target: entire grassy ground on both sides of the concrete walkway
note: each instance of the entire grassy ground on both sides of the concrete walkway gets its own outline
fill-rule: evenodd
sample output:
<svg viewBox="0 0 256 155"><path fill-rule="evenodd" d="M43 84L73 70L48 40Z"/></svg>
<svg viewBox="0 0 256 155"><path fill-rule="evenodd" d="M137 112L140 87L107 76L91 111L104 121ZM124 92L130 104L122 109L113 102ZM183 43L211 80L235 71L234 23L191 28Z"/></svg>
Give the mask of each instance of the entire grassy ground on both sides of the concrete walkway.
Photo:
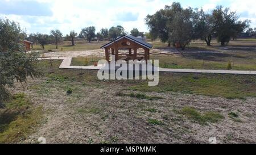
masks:
<svg viewBox="0 0 256 155"><path fill-rule="evenodd" d="M256 70L254 48L236 47L255 41L231 41L235 47L227 49L195 41L183 56L151 58L164 68L226 69L231 62L233 69ZM68 44L63 51L74 50ZM77 43L75 51L101 44ZM72 65L99 59L76 57ZM44 76L28 78L28 89L10 88L13 97L0 110L0 143L38 143L41 136L47 143L208 143L212 136L218 143L255 143L255 76L159 73L152 87L147 80L100 81L96 70L59 69L61 60L51 62L38 61Z"/></svg>

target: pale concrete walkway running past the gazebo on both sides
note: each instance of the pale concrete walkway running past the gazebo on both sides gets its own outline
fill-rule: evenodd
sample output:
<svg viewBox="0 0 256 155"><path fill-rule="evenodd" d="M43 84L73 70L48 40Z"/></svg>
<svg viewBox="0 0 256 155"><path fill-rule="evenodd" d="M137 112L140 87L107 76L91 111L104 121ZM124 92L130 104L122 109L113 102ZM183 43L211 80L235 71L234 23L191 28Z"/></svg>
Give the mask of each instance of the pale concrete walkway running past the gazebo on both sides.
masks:
<svg viewBox="0 0 256 155"><path fill-rule="evenodd" d="M71 66L72 57L48 57L39 58L38 60L63 60L59 66L60 69L92 69L99 70L105 65L98 66ZM169 69L159 68L159 72L174 72L174 73L214 73L214 74L245 74L256 75L256 71L250 70L205 70L205 69Z"/></svg>

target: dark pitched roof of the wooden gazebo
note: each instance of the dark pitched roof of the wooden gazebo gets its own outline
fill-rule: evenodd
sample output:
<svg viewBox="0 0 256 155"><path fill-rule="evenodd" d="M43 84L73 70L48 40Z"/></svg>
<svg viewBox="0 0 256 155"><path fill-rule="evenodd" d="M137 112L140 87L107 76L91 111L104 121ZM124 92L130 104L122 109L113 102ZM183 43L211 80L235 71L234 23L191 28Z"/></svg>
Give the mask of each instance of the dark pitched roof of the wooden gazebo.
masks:
<svg viewBox="0 0 256 155"><path fill-rule="evenodd" d="M108 44L103 45L101 48L108 47L109 45L111 45L111 44L115 43L116 41L119 41L123 38L134 41L135 43L140 44L140 45L142 45L143 47L146 47L146 48L152 48L153 47L150 43L147 43L146 41L143 41L142 39L140 39L138 37L134 37L134 36L130 36L130 35L123 35L123 36L117 37L117 39L115 39L113 41L110 41Z"/></svg>

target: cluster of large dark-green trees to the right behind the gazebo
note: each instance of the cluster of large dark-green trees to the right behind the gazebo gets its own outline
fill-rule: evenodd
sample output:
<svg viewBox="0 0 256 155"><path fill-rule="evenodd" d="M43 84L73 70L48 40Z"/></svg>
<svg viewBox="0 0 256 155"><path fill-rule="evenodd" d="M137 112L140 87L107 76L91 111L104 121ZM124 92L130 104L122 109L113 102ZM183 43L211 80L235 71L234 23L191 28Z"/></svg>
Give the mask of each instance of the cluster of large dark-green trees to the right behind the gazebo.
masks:
<svg viewBox="0 0 256 155"><path fill-rule="evenodd" d="M184 9L179 2L166 5L153 15L147 15L145 22L153 39L159 37L168 47L179 44L182 49L192 40L204 40L211 45L213 37L222 46L227 45L230 39L236 37L250 27L250 20L238 20L236 12L229 8L216 6L207 13L203 9Z"/></svg>

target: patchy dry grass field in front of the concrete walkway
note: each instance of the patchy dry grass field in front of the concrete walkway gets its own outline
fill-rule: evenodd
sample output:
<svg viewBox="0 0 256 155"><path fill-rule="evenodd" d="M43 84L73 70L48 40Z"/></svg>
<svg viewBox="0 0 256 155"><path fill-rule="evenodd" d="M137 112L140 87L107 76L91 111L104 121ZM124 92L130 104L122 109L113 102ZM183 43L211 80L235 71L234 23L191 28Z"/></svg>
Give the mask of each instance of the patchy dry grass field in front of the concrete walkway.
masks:
<svg viewBox="0 0 256 155"><path fill-rule="evenodd" d="M60 63L39 61L45 78L28 81L26 92L47 114L30 139L208 143L217 134L220 143L255 142L255 76L160 73L159 85L149 87L147 81L100 81L95 70L58 69Z"/></svg>

